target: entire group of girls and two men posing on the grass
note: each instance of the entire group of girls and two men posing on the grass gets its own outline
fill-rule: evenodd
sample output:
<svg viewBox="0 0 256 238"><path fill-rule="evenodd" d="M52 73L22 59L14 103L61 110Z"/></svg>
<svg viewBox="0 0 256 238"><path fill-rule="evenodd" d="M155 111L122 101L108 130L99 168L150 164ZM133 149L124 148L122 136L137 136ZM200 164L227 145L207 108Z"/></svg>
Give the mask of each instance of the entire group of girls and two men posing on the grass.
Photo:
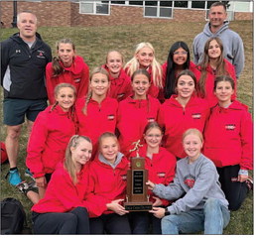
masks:
<svg viewBox="0 0 256 238"><path fill-rule="evenodd" d="M223 2L208 19L192 52L175 42L163 64L141 42L132 59L111 50L89 68L71 39L51 49L35 13L18 13L19 32L1 42L1 148L34 234L223 234L253 189L253 122L237 100L243 42ZM18 169L25 122L30 182ZM138 157L151 206L134 211Z"/></svg>

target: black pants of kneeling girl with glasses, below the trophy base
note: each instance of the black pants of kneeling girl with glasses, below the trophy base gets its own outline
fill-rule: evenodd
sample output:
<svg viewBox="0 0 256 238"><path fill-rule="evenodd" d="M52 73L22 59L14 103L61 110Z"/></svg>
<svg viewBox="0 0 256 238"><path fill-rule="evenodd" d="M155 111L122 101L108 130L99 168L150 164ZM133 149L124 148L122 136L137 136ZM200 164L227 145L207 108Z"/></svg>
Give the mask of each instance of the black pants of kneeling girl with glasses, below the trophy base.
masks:
<svg viewBox="0 0 256 238"><path fill-rule="evenodd" d="M162 234L161 219L155 217L148 211L136 211L129 213L132 234L148 234L152 224L153 234Z"/></svg>

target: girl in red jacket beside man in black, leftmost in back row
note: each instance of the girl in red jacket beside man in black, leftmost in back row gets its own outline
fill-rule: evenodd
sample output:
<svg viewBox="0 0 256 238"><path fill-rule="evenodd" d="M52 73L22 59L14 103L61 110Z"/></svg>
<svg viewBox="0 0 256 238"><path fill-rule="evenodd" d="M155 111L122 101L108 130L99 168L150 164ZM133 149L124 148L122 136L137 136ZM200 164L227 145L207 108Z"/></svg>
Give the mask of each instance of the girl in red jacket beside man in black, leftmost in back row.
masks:
<svg viewBox="0 0 256 238"><path fill-rule="evenodd" d="M75 86L77 98L86 94L89 81L89 67L79 56L69 39L57 43L58 57L49 62L46 68L46 84L50 104L55 103L55 87L61 82Z"/></svg>

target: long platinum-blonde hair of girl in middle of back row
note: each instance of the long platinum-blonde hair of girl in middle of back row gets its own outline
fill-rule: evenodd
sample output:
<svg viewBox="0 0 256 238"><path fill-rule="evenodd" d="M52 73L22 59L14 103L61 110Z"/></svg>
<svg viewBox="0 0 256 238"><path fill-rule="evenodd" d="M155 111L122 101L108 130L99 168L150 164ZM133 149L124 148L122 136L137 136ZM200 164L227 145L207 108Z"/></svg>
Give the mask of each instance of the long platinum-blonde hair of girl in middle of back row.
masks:
<svg viewBox="0 0 256 238"><path fill-rule="evenodd" d="M153 84L159 88L163 88L163 82L162 82L162 66L161 64L158 62L158 60L156 60L155 57L155 50L153 48L153 46L150 43L140 43L136 46L135 49L135 53L134 53L134 57L129 60L124 68L127 68L127 74L129 76L131 76L133 74L133 72L135 70L137 70L140 67L139 61L136 59L136 55L143 49L143 48L149 48L150 50L152 50L153 55L154 55L154 59L152 61L151 67L152 67L152 81Z"/></svg>

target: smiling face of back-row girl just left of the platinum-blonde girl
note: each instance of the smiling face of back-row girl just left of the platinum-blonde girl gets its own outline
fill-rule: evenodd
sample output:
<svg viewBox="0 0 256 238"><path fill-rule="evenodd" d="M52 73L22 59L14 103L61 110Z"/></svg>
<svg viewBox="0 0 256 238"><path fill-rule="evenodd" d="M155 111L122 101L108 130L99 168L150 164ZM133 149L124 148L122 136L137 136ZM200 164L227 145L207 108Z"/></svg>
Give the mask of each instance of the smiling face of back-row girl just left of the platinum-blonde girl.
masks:
<svg viewBox="0 0 256 238"><path fill-rule="evenodd" d="M123 58L118 52L110 52L107 56L106 65L111 74L119 74L123 66Z"/></svg>

